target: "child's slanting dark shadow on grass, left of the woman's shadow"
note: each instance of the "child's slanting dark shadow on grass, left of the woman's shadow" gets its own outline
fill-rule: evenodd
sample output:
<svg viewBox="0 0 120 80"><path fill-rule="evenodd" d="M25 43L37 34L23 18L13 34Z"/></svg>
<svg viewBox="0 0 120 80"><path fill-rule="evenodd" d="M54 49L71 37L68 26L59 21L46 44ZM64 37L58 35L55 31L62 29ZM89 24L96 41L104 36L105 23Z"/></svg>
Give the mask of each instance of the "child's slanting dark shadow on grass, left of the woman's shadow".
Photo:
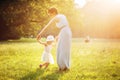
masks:
<svg viewBox="0 0 120 80"><path fill-rule="evenodd" d="M37 69L35 72L30 72L27 75L20 78L20 80L36 80L37 77L44 73L44 69Z"/></svg>

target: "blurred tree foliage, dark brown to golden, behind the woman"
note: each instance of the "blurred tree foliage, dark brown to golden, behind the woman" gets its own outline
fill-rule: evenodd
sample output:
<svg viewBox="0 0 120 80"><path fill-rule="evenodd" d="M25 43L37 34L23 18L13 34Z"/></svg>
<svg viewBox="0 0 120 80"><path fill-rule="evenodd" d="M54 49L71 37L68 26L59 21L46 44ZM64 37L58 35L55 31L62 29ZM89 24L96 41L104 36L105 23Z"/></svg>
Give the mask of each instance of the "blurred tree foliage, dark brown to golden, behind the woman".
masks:
<svg viewBox="0 0 120 80"><path fill-rule="evenodd" d="M4 0L0 2L0 40L35 37L50 20L47 15L49 7L57 7L60 13L65 14L73 32L76 32L75 26L80 26L81 21L74 0ZM51 26L43 36L57 35L58 32Z"/></svg>

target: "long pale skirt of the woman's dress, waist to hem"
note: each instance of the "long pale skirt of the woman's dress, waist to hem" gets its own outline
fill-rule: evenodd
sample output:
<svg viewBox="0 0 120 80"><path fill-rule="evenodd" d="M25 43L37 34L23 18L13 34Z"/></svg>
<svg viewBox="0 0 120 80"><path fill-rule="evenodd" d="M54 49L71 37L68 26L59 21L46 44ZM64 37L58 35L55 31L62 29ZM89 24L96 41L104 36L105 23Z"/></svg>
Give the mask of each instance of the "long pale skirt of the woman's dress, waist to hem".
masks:
<svg viewBox="0 0 120 80"><path fill-rule="evenodd" d="M57 63L59 68L70 68L71 30L65 27L60 31L57 46Z"/></svg>

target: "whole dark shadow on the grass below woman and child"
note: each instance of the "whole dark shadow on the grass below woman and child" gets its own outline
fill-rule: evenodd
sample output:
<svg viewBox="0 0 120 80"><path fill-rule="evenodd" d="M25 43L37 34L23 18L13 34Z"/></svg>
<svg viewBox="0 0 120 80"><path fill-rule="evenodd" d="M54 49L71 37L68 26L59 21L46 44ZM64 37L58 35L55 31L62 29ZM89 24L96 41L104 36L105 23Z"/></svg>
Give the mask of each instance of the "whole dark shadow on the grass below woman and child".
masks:
<svg viewBox="0 0 120 80"><path fill-rule="evenodd" d="M45 69L37 69L35 72L31 72L20 80L59 80L66 72L47 71Z"/></svg>

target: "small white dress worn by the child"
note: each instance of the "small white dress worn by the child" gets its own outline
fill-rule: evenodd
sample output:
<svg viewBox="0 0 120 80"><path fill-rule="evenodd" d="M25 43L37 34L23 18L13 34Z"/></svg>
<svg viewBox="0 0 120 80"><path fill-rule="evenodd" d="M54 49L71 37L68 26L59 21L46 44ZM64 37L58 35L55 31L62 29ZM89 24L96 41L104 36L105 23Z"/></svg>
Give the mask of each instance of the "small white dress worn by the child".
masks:
<svg viewBox="0 0 120 80"><path fill-rule="evenodd" d="M54 64L53 56L50 53L51 49L52 49L52 45L45 46L44 52L42 54L42 61Z"/></svg>

